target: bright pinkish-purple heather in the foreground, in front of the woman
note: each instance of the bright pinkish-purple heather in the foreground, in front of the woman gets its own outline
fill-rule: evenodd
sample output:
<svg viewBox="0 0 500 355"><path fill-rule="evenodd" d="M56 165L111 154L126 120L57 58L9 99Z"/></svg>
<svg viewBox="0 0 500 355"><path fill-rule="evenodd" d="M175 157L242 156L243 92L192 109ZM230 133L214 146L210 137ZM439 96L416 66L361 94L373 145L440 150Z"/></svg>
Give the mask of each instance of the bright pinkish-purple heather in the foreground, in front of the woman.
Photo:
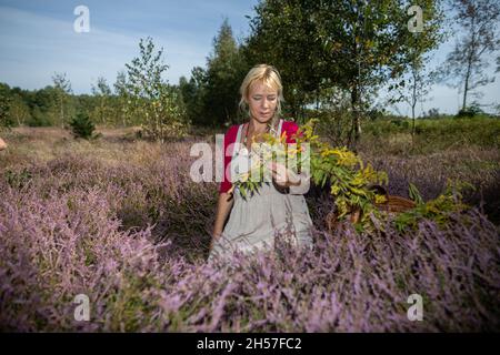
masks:
<svg viewBox="0 0 500 355"><path fill-rule="evenodd" d="M113 192L49 197L10 187L0 209L1 324L21 331L380 332L492 331L499 326L498 233L478 211L442 230L317 232L314 248L278 236L278 253L187 262L150 229L122 232ZM50 210L50 213L47 213ZM16 217L18 216L18 217ZM21 222L22 221L22 222ZM33 237L36 236L36 237ZM91 300L76 322L72 298ZM424 297L424 322L406 300Z"/></svg>

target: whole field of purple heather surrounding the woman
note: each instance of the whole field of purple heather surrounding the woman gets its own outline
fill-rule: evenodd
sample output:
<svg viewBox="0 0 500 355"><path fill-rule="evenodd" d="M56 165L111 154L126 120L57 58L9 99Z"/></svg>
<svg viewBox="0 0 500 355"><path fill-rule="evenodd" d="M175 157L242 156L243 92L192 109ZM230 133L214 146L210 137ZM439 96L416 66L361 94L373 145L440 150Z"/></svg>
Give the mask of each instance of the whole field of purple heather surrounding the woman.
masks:
<svg viewBox="0 0 500 355"><path fill-rule="evenodd" d="M50 154L17 155L26 144L44 146L18 136L0 154L2 331L499 329L499 229L483 213L493 200L473 200L498 193L498 150L362 152L388 172L394 194L408 196L413 182L427 201L447 178L482 186L464 197L490 201L484 209L450 213L444 226L423 219L398 231L371 216L370 234L349 224L329 234L333 201L328 186L313 186L312 250L292 247L283 234L274 251L207 262L217 184L190 180L189 142L63 139ZM89 322L74 320L78 294L90 298ZM407 317L411 294L423 297L422 322Z"/></svg>

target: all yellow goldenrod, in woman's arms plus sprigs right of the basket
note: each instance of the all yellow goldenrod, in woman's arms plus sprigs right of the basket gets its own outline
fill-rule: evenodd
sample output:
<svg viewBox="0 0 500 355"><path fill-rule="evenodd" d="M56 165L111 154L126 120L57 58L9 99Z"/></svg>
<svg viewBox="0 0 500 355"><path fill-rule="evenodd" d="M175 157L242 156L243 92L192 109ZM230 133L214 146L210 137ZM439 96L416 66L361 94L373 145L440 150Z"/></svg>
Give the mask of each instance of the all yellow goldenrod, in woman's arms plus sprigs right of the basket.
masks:
<svg viewBox="0 0 500 355"><path fill-rule="evenodd" d="M266 178L266 173L269 173L270 164L284 160L289 173L300 174L302 170L306 170L316 185L323 187L328 183L339 221L348 215L357 214L359 219L354 222L356 227L372 230L373 222L370 214L382 217L378 205L387 201L386 195L380 194L372 186L387 185L389 183L387 173L364 164L346 146L333 148L320 141L319 136L313 134L317 122L317 119L311 119L299 128L293 135L296 144L286 144L284 133L280 138L267 134L266 143L256 144L254 149L252 148L249 153L251 164L237 174L233 189L238 186L243 196L249 192L254 193L266 181L262 176ZM416 202L416 207L398 216L396 220L398 229L414 225L421 216L434 216L448 221L447 212L463 211L467 207L460 199L453 202L450 196L451 193L448 192L424 203L416 187L410 184L410 197Z"/></svg>

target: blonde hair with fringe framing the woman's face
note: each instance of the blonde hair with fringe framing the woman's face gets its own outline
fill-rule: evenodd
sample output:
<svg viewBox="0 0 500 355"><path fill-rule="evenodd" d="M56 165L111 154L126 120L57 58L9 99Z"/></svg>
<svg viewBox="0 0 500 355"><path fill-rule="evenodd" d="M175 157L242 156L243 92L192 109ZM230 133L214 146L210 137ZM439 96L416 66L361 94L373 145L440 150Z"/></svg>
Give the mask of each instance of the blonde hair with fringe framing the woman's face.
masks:
<svg viewBox="0 0 500 355"><path fill-rule="evenodd" d="M247 116L250 116L250 110L244 99L248 98L250 88L253 85L253 83L259 81L266 84L268 88L278 91L277 110L274 111L274 115L269 123L270 129L276 130L281 118L281 102L284 102L284 98L283 85L281 84L281 75L274 67L268 64L258 64L250 69L240 87L240 110L244 112Z"/></svg>

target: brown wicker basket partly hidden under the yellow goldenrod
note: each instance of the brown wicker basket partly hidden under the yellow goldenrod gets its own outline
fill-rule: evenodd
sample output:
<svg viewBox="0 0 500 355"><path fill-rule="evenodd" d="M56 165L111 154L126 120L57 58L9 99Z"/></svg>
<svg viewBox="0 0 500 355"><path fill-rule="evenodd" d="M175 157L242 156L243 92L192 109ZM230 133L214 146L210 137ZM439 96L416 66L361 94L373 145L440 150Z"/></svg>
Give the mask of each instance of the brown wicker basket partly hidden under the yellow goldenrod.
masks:
<svg viewBox="0 0 500 355"><path fill-rule="evenodd" d="M408 210L411 210L416 206L416 203L411 200L408 200L402 196L396 196L390 195L387 190L383 186L380 185L372 185L370 186L371 190L376 191L378 194L386 195L386 202L383 203L376 203L377 209L379 211L383 211L390 214L397 214L401 213ZM359 222L361 219L361 210L356 209L350 214L347 215L348 221L352 224ZM328 227L328 232L332 233L339 223L339 219L336 212L330 212L327 214L327 217L324 219Z"/></svg>

